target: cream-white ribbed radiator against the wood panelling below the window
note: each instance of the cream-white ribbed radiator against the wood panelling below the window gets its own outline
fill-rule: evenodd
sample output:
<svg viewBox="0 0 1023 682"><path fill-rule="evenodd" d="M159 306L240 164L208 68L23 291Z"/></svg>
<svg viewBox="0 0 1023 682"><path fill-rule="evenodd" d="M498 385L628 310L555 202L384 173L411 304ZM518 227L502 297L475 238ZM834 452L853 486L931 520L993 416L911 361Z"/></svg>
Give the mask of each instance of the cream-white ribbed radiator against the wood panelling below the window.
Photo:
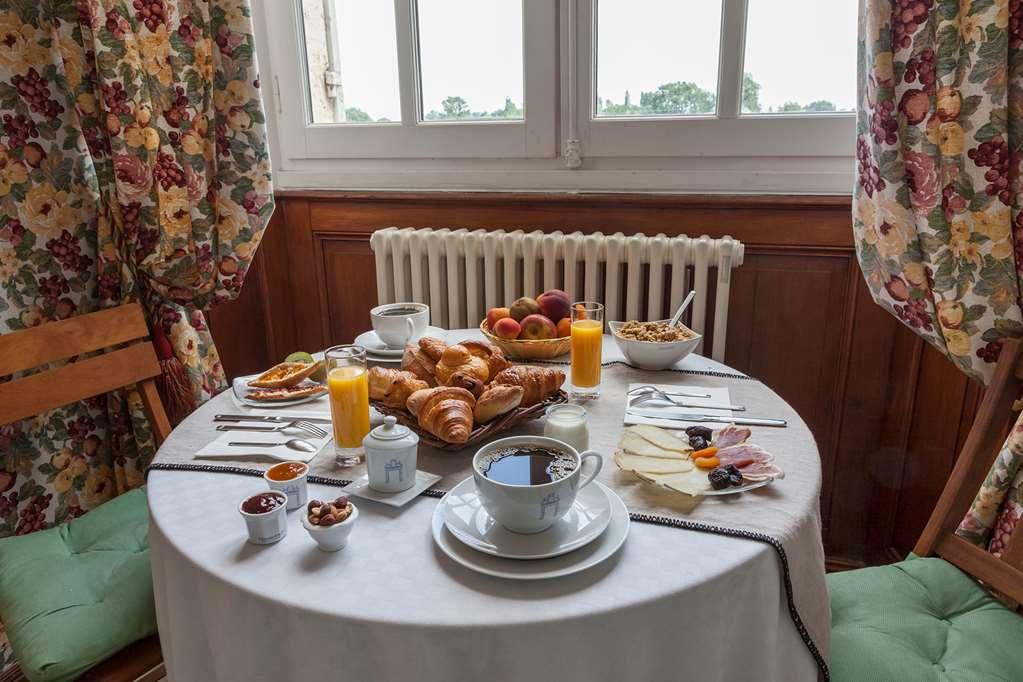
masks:
<svg viewBox="0 0 1023 682"><path fill-rule="evenodd" d="M718 361L724 359L731 269L743 264L744 253L728 236L446 228L389 227L373 232L369 243L379 302L429 304L432 323L448 329L479 326L487 309L549 288L565 289L572 301L604 303L606 320L659 320L695 288L690 326L703 333L708 278L716 268L711 357Z"/></svg>

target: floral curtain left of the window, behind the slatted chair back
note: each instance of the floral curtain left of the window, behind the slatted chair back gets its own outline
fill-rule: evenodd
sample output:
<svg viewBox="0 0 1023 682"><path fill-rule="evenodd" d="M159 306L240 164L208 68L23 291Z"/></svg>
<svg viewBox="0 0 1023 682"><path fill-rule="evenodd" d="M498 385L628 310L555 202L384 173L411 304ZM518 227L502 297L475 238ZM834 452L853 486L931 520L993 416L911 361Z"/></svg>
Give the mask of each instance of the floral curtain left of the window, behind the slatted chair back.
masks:
<svg viewBox="0 0 1023 682"><path fill-rule="evenodd" d="M139 301L192 402L224 387L203 311L237 294L273 210L250 16L0 0L0 333ZM153 452L134 391L0 426L0 537L140 485Z"/></svg>

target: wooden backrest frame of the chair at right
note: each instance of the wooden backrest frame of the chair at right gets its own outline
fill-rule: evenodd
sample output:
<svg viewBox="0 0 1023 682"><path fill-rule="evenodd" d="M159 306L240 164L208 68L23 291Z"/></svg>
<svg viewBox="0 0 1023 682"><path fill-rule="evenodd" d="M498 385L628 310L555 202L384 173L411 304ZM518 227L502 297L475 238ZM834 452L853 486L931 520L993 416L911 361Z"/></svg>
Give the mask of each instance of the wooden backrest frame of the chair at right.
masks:
<svg viewBox="0 0 1023 682"><path fill-rule="evenodd" d="M1000 557L955 534L1005 441L1013 403L1023 387L1023 343L1003 342L994 376L984 392L970 434L914 551L937 554L1017 602L1023 602L1023 522Z"/></svg>

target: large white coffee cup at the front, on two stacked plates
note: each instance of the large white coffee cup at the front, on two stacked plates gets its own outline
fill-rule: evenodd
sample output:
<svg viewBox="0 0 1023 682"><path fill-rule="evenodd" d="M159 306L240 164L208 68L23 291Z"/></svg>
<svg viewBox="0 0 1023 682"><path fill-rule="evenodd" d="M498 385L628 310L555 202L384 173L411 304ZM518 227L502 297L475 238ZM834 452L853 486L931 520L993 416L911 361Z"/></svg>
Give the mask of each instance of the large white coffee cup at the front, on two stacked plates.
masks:
<svg viewBox="0 0 1023 682"><path fill-rule="evenodd" d="M564 479L538 486L500 483L483 474L480 464L487 455L523 446L540 446L570 455L575 459L575 468ZM587 461L595 465L583 475L582 468ZM553 439L513 436L492 441L477 451L473 457L473 480L483 508L494 520L515 533L539 533L568 513L576 493L596 479L603 465L604 458L592 450L580 454L567 443Z"/></svg>

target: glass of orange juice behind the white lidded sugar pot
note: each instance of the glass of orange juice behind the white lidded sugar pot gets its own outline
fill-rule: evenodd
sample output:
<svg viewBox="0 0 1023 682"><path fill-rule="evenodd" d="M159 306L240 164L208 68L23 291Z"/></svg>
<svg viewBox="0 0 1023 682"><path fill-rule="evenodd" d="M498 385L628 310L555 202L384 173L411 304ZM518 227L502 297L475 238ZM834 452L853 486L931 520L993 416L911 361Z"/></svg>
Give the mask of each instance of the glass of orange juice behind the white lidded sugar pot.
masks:
<svg viewBox="0 0 1023 682"><path fill-rule="evenodd" d="M323 352L330 392L333 448L341 466L362 461L362 439L369 433L369 376L366 350L335 346Z"/></svg>

